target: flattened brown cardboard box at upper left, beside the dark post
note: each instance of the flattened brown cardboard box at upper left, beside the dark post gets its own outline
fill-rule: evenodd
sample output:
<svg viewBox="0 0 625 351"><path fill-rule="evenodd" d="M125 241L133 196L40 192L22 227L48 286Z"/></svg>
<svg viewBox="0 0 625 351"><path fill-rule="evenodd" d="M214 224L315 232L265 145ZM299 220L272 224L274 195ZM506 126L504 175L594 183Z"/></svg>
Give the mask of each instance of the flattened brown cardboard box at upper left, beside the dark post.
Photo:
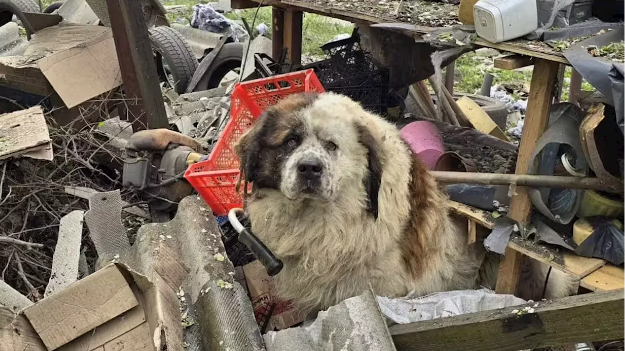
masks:
<svg viewBox="0 0 625 351"><path fill-rule="evenodd" d="M121 83L113 32L107 27L46 27L23 55L0 57L0 85L41 96L56 91L68 108Z"/></svg>

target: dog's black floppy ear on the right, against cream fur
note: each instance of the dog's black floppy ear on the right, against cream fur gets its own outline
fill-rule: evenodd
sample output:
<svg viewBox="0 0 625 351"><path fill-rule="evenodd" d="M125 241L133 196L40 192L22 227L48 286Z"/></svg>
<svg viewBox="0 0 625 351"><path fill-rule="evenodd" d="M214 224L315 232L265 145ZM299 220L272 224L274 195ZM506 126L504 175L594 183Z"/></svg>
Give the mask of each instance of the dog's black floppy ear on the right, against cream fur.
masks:
<svg viewBox="0 0 625 351"><path fill-rule="evenodd" d="M380 160L380 147L369 129L360 123L356 123L358 141L367 149L369 174L364 179L364 189L367 192L369 204L367 210L377 220L377 197L382 183L382 162Z"/></svg>

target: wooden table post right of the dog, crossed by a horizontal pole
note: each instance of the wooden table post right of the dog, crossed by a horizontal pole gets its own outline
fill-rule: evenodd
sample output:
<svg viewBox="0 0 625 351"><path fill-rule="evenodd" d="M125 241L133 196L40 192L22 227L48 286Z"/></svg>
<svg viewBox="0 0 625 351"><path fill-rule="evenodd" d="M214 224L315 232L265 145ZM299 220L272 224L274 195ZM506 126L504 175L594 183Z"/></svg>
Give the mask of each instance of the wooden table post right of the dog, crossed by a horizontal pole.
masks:
<svg viewBox="0 0 625 351"><path fill-rule="evenodd" d="M521 134L519 157L516 161L516 174L527 174L530 156L536 142L549 124L549 107L551 107L552 93L556 82L558 62L545 59L534 60L531 89L527 101L525 125ZM531 214L532 204L527 196L527 189L516 187L516 195L510 202L509 216L526 224ZM506 249L504 260L499 266L496 292L498 294L514 294L521 273L523 255L515 250Z"/></svg>

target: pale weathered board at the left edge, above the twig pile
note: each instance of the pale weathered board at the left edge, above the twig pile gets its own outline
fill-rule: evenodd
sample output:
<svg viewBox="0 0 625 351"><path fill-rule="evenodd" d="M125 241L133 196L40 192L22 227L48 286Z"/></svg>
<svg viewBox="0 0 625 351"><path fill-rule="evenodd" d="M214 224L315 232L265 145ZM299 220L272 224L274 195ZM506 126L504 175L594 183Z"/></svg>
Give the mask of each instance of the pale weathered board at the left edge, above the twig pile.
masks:
<svg viewBox="0 0 625 351"><path fill-rule="evenodd" d="M52 161L51 154L50 132L41 106L0 115L0 160L27 156Z"/></svg>

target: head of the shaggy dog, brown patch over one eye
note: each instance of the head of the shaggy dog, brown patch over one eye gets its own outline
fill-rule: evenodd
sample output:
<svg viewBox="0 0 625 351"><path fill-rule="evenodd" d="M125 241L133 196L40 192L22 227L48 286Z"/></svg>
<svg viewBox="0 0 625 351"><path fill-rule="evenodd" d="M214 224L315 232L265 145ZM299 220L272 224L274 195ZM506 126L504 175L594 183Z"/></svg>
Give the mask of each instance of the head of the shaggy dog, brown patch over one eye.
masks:
<svg viewBox="0 0 625 351"><path fill-rule="evenodd" d="M344 191L364 191L377 217L382 166L377 142L359 121L363 114L359 104L332 93L282 99L235 147L247 181L291 200L332 201Z"/></svg>

